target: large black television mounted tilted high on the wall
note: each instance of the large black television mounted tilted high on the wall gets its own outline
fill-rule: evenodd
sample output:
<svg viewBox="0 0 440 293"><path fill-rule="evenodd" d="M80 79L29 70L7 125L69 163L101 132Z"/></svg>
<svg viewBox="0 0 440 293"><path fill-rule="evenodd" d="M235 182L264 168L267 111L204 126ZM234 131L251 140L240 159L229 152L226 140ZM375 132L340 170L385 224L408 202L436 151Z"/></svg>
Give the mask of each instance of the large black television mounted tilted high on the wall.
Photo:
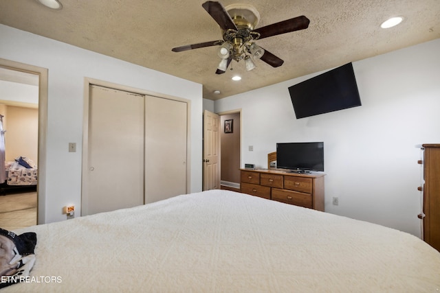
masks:
<svg viewBox="0 0 440 293"><path fill-rule="evenodd" d="M361 106L351 63L290 86L289 94L296 119Z"/></svg>

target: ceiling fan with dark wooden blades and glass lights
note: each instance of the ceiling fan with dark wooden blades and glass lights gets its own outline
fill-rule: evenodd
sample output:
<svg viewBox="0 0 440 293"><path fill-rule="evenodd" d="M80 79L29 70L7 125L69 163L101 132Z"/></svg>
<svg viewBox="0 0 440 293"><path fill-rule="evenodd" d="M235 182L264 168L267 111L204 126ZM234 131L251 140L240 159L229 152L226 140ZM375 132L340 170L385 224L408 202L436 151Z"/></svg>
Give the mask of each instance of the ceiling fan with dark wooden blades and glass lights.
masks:
<svg viewBox="0 0 440 293"><path fill-rule="evenodd" d="M254 60L257 59L263 60L272 67L283 65L284 60L256 45L256 40L287 32L305 30L309 27L310 23L307 17L298 16L254 30L259 23L260 14L252 5L232 4L224 8L217 1L206 1L201 6L220 25L223 31L223 40L184 45L175 47L172 51L181 52L203 47L219 46L217 54L221 61L215 72L217 74L225 73L232 60L239 62L244 59L246 70L248 71L255 68Z"/></svg>

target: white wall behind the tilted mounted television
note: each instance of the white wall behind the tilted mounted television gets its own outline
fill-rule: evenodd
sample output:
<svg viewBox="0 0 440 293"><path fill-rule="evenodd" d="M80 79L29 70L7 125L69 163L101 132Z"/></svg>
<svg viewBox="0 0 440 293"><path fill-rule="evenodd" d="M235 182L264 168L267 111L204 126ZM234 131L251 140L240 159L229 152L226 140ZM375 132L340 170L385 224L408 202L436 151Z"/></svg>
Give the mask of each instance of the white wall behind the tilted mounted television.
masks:
<svg viewBox="0 0 440 293"><path fill-rule="evenodd" d="M324 141L325 210L419 236L415 145L440 143L439 51L437 39L353 62L360 107L296 119L287 88L316 73L219 99L214 110L242 109L242 166L267 167L277 142Z"/></svg>

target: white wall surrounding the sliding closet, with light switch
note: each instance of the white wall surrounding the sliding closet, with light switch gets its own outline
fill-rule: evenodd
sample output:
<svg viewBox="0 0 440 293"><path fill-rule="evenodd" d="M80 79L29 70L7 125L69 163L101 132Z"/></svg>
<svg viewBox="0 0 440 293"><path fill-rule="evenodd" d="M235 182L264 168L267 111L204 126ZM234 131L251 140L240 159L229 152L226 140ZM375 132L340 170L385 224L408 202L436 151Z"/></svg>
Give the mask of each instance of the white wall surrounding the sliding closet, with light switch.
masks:
<svg viewBox="0 0 440 293"><path fill-rule="evenodd" d="M66 204L75 204L80 214L82 152L78 146L83 139L85 77L190 99L190 191L201 191L201 84L5 25L0 25L0 39L0 58L49 71L47 177L45 207L41 207L45 212L39 215L45 222L65 220L61 211ZM77 152L68 152L69 142L76 143Z"/></svg>

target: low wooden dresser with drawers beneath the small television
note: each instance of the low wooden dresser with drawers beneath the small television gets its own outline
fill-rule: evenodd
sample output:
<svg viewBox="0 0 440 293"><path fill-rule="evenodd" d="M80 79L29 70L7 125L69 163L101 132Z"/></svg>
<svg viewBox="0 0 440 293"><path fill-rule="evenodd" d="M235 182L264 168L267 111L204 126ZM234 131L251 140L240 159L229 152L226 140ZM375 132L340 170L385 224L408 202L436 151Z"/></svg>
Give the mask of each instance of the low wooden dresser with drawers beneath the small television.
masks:
<svg viewBox="0 0 440 293"><path fill-rule="evenodd" d="M324 176L323 173L241 169L240 187L243 194L324 211Z"/></svg>

